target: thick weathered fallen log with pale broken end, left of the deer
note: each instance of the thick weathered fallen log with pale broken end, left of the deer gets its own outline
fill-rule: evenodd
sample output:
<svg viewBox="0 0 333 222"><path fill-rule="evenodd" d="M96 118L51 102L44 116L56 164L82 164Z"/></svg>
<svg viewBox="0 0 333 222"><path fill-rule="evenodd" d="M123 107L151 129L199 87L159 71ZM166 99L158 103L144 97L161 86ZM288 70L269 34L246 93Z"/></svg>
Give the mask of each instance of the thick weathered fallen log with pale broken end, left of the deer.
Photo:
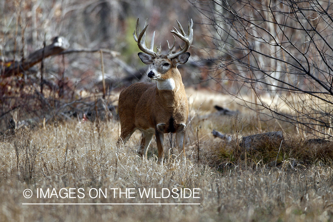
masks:
<svg viewBox="0 0 333 222"><path fill-rule="evenodd" d="M51 45L39 49L31 53L28 58L25 58L21 61L15 61L9 67L6 67L3 73L1 73L1 77L18 75L28 70L35 64L41 62L43 59L63 52L64 50L68 49L68 47L69 43L64 37L55 37Z"/></svg>

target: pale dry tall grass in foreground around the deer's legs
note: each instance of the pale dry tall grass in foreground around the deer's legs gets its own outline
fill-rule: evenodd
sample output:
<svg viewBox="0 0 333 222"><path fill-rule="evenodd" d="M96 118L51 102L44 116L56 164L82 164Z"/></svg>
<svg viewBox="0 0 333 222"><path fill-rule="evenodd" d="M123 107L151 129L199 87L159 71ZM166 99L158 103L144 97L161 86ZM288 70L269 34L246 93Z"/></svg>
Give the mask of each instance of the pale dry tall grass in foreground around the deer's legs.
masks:
<svg viewBox="0 0 333 222"><path fill-rule="evenodd" d="M200 161L196 146L187 140L188 161L166 158L163 167L150 156L136 155L140 139L134 136L117 147L118 122L77 120L17 132L1 143L1 221L327 221L332 217L332 168L330 162L292 164L281 159L275 167L247 152L242 158L212 167L213 152L224 147L224 159L232 156L230 144L200 138ZM205 131L206 129L202 129ZM195 130L193 130L194 132ZM200 131L199 131L200 132ZM137 138L138 137L138 138ZM195 138L189 134L192 141ZM206 136L208 137L208 135ZM23 147L24 149L15 149ZM299 149L304 145L300 143ZM156 146L153 144L153 147ZM296 147L296 146L294 146ZM20 151L21 150L21 151ZM309 148L309 150L311 150ZM208 152L210 151L210 152ZM34 155L34 152L37 152ZM273 157L275 155L272 155ZM275 156L276 157L276 156ZM223 159L220 157L220 159ZM250 164L252 160L252 165ZM20 165L33 163L27 171ZM31 189L33 196L24 198ZM37 198L37 189L78 188L84 198ZM107 188L107 198L90 198L91 188ZM114 198L110 188L199 188L200 198ZM123 190L123 191L124 191ZM124 194L123 194L124 195ZM200 203L200 205L22 205L22 203Z"/></svg>

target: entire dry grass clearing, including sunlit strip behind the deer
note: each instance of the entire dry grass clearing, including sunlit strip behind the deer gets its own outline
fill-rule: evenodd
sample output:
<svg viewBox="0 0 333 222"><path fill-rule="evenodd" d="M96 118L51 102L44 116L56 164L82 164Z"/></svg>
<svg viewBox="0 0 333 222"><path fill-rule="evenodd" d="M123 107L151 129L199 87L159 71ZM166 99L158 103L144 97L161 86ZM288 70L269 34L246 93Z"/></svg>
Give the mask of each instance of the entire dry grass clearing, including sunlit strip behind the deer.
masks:
<svg viewBox="0 0 333 222"><path fill-rule="evenodd" d="M286 126L282 147L241 150L238 138L259 131L256 113L216 94L187 91L187 96L186 165L172 155L158 165L154 142L150 157L142 161L136 155L139 132L118 147L117 120L73 119L19 129L3 139L0 221L333 220L331 143L309 145ZM215 104L239 114L218 115ZM260 124L266 131L283 125L274 120ZM232 141L213 138L214 128L229 133ZM31 198L24 197L26 189L32 191ZM103 193L95 198L100 189ZM148 197L141 196L143 189L150 189Z"/></svg>

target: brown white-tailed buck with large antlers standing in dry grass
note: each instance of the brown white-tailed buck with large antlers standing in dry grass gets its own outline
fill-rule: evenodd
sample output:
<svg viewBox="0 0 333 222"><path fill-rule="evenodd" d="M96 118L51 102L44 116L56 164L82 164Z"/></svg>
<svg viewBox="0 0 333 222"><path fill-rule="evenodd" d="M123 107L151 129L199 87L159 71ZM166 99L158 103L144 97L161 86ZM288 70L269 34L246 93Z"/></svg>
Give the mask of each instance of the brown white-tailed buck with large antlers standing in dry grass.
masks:
<svg viewBox="0 0 333 222"><path fill-rule="evenodd" d="M177 20L176 20L177 21ZM156 83L137 82L124 89L119 96L119 117L121 135L118 142L125 144L139 129L142 139L138 154L147 158L148 147L154 134L158 148L158 163L164 160L164 133L176 134L176 145L182 160L186 160L184 140L185 127L188 118L188 103L185 87L181 79L178 65L185 64L190 56L186 52L193 40L193 22L188 22L188 33L185 34L182 26L177 21L179 31L173 27L171 33L179 37L185 44L176 53L172 53L176 38L173 36L173 44L170 47L167 41L168 54L161 53L161 44L154 52L155 31L152 36L150 48L146 46L147 20L144 29L139 33L139 18L133 33L134 40L138 43L138 53L141 61L146 65L152 65L148 73L151 80Z"/></svg>

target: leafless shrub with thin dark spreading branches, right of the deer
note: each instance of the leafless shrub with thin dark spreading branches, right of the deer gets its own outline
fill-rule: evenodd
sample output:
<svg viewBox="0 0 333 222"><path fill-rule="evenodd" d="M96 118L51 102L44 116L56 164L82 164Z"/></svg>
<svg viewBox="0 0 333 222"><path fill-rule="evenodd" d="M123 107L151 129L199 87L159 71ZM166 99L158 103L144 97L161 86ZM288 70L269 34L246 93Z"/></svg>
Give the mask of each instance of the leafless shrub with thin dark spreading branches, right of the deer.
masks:
<svg viewBox="0 0 333 222"><path fill-rule="evenodd" d="M224 92L250 109L297 126L300 134L332 137L331 2L218 0L193 5L205 16L206 35L215 50L211 75ZM244 99L245 94L252 99Z"/></svg>

